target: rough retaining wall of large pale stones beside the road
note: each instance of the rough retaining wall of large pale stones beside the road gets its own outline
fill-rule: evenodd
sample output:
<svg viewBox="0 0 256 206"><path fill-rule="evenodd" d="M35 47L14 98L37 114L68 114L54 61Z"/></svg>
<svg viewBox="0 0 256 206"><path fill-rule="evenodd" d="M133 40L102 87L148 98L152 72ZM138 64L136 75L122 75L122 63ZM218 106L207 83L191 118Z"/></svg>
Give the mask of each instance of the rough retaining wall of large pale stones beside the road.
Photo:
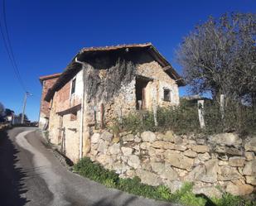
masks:
<svg viewBox="0 0 256 206"><path fill-rule="evenodd" d="M145 184L167 185L172 192L194 182L196 194L220 197L252 194L256 185L256 137L242 141L234 133L209 137L142 132L94 131L91 160L120 177L138 176ZM218 186L218 187L217 187Z"/></svg>

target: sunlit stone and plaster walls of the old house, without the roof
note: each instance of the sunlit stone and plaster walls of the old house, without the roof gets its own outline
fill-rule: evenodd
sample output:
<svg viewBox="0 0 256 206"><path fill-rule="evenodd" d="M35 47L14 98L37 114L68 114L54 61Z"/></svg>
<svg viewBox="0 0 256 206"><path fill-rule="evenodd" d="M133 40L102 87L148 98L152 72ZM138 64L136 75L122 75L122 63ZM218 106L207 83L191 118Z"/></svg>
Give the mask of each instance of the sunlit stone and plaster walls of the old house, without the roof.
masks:
<svg viewBox="0 0 256 206"><path fill-rule="evenodd" d="M74 73L71 72L72 69L69 70L69 74L65 74L66 71L64 71L60 79L65 80L65 83L61 84L57 81L57 84L61 86L57 89L50 89L54 90L54 93L48 103L50 108L49 140L59 146L60 151L65 153L70 160L76 162L81 156L86 156L91 146L91 131L95 127L110 125L114 119L122 119L128 113L136 112L138 109L152 110L158 106L179 105L176 81L181 78L173 77L174 69L167 61L161 63L162 56L161 61L159 56L148 53L148 50L152 49L151 44L145 46L146 50L114 51L115 53L111 54L94 55L83 61L81 57L79 64L83 66ZM114 85L114 94L110 99L105 98L108 96L108 91L104 88L113 84L105 85L106 82L103 79L111 79L115 73L118 73L122 65L119 67L114 67L114 65L117 65L120 58L133 65L131 78ZM167 68L164 69L164 67ZM167 69L172 70L167 72ZM125 69L122 71L125 72ZM93 79L91 82L89 82L91 80L89 77ZM74 80L75 91L72 93ZM94 82L99 85L96 85L92 92L90 89ZM109 86L110 90L111 87ZM104 92L96 95L99 88ZM164 98L165 91L167 91L167 98Z"/></svg>

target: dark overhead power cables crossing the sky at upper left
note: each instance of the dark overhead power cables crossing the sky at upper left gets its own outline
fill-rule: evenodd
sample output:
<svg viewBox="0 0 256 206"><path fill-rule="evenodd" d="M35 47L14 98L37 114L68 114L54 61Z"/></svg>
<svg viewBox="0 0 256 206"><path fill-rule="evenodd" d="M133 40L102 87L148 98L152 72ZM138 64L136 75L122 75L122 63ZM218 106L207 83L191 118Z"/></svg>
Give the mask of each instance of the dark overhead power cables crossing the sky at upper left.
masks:
<svg viewBox="0 0 256 206"><path fill-rule="evenodd" d="M7 55L9 57L9 60L12 63L12 68L14 70L14 74L16 75L16 78L17 78L19 84L22 86L22 89L26 92L27 89L25 87L25 84L22 81L22 76L19 72L19 69L17 67L17 62L16 62L16 60L14 58L14 55L13 55L12 44L11 44L11 41L10 41L8 29L7 29L5 0L2 0L2 14L3 14L3 26L4 26L5 31L6 31L6 37L5 37L4 36L4 29L3 29L2 22L1 22L1 19L0 19L0 30L1 30L1 34L2 34L2 40L4 42L4 46L7 50Z"/></svg>

